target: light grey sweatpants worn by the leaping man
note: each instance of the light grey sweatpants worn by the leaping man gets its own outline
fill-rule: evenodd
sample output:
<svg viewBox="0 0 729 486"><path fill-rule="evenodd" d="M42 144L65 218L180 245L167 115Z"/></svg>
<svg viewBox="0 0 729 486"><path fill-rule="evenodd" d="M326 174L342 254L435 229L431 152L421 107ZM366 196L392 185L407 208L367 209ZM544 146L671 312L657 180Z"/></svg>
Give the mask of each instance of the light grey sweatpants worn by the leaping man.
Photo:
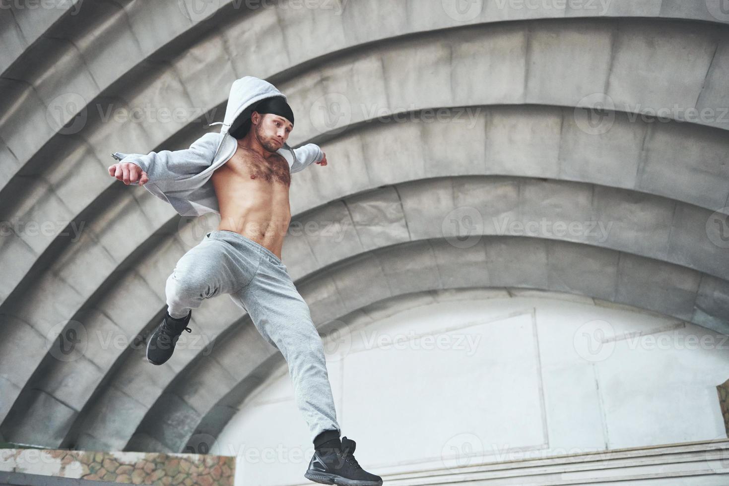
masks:
<svg viewBox="0 0 729 486"><path fill-rule="evenodd" d="M165 292L172 317L187 315L203 299L230 294L284 355L312 442L323 431L341 431L321 337L286 265L268 248L233 231L209 232L179 259Z"/></svg>

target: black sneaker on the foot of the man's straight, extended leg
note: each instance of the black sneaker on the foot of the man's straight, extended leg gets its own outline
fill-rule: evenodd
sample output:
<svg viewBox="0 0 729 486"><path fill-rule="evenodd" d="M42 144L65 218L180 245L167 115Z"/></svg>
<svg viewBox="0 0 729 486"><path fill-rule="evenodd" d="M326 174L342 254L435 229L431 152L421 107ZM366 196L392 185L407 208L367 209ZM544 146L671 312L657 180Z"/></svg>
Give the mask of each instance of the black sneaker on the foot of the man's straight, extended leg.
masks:
<svg viewBox="0 0 729 486"><path fill-rule="evenodd" d="M355 445L356 442L344 436L341 450L314 450L304 477L322 485L381 486L381 477L364 471L357 463L354 458Z"/></svg>

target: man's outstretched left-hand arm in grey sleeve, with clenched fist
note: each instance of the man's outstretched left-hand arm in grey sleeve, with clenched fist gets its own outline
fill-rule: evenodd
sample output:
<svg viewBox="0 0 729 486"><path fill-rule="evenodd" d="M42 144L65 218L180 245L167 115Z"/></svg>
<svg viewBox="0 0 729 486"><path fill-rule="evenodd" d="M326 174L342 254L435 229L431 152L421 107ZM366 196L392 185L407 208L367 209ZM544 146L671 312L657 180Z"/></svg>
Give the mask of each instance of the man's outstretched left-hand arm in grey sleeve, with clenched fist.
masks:
<svg viewBox="0 0 729 486"><path fill-rule="evenodd" d="M115 152L112 156L121 160L109 165L109 176L127 185L144 185L147 181L200 173L213 162L219 139L217 133L206 133L194 141L189 149L162 150L149 154Z"/></svg>

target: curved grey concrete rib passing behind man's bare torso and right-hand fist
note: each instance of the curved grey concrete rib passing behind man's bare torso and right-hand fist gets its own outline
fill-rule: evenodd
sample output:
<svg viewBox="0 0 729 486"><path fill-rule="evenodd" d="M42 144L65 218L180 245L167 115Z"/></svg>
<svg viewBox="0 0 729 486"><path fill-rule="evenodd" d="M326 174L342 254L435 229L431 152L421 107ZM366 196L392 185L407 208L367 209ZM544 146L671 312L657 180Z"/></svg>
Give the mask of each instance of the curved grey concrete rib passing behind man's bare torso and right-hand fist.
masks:
<svg viewBox="0 0 729 486"><path fill-rule="evenodd" d="M721 205L729 190L729 181L720 172L727 141L718 130L631 123L621 115L612 130L598 137L580 130L568 109L470 108L480 110L472 120L472 128L467 119L457 119L458 112L453 111L453 117L443 122L369 125L324 144L332 165L321 173L297 174L292 190L293 213L383 184L459 174L577 180L635 188L709 207ZM388 147L398 147L402 156L392 159ZM171 206L144 189L117 184L122 197L110 203L100 216L83 219L80 235L72 235L79 236L79 240L60 248L53 262L34 275L34 285L28 286L22 298L2 306L4 313L26 323L7 327L18 340L26 333L26 326L35 329L38 339L55 339L61 329L49 334L52 329L63 319L93 307L92 296L98 298L100 286L123 274L122 262L139 257L137 248L148 244L160 227L176 227L178 216ZM707 187L712 190L707 191ZM704 212L701 217L708 218L711 211ZM701 259L698 262L701 268ZM87 272L90 265L95 269L92 273ZM725 270L719 265L713 273L723 276ZM50 292L54 299L48 298ZM23 386L42 356L47 356L47 349L39 345L40 354L33 358L26 354L23 367L18 368L13 365L19 362L13 358L18 352L13 342L15 338L5 345L0 343L0 356L5 357L0 358L2 368L12 370L8 375L17 380L6 385L7 396L14 396L9 388ZM7 409L2 416L6 413Z"/></svg>

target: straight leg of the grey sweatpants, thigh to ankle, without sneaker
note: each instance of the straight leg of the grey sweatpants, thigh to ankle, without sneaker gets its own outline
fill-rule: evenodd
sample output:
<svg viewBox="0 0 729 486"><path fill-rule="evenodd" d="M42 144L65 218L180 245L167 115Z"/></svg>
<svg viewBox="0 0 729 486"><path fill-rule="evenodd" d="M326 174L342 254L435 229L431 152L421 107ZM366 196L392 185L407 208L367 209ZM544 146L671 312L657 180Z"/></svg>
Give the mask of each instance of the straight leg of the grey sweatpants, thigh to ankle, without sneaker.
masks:
<svg viewBox="0 0 729 486"><path fill-rule="evenodd" d="M281 351L289 365L297 407L309 427L312 442L337 439L332 388L324 357L324 345L316 331L309 307L297 291L286 266L275 256L262 254L258 271L249 285L231 294L248 310L261 335ZM323 434L326 432L326 434Z"/></svg>

